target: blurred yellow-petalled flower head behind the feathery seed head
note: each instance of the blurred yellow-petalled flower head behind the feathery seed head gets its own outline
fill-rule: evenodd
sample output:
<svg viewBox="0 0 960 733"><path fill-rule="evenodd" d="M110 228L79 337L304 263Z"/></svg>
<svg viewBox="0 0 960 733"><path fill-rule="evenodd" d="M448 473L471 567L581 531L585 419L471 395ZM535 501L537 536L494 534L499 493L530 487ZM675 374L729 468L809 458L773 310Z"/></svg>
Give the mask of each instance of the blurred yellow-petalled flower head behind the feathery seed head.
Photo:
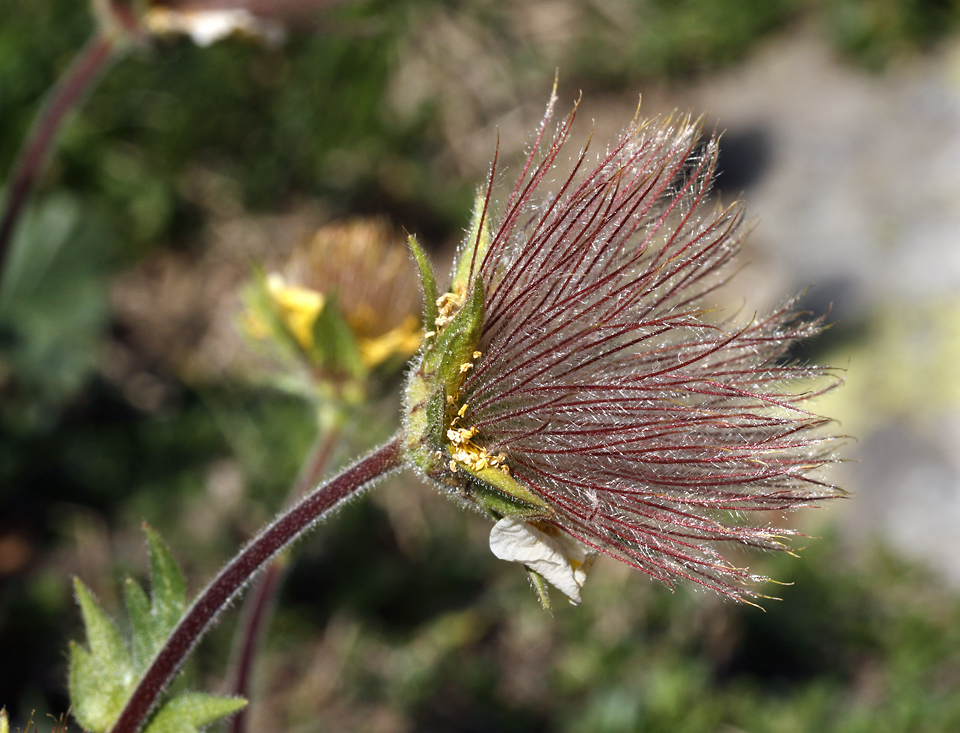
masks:
<svg viewBox="0 0 960 733"><path fill-rule="evenodd" d="M420 347L417 283L399 237L356 219L320 229L248 288L241 323L321 396L363 400Z"/></svg>

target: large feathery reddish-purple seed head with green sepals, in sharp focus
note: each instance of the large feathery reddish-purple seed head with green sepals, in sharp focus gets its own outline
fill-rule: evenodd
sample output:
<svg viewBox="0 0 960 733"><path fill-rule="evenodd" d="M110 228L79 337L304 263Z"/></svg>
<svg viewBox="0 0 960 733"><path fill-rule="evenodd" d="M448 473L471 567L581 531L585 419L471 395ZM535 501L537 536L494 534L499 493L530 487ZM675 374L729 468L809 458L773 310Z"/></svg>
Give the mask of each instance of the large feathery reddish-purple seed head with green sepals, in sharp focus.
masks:
<svg viewBox="0 0 960 733"><path fill-rule="evenodd" d="M786 510L842 491L839 439L807 402L836 382L792 363L816 334L793 301L723 315L711 295L744 235L709 200L717 139L634 121L564 157L551 99L506 201L478 196L452 282L424 282L428 332L406 392L407 461L496 521L491 548L579 602L594 556L738 600L765 578L725 547L787 549ZM432 326L430 324L433 324Z"/></svg>

